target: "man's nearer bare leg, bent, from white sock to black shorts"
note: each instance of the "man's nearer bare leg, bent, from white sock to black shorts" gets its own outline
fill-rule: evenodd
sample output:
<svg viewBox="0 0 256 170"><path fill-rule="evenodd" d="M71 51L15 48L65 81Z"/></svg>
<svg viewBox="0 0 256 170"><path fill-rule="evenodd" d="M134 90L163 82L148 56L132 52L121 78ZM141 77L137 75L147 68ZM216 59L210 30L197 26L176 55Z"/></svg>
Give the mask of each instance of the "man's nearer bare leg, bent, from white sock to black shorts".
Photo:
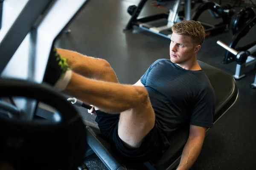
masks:
<svg viewBox="0 0 256 170"><path fill-rule="evenodd" d="M154 127L155 114L142 86L98 81L73 72L66 90L104 112L121 112L118 134L129 147L139 147Z"/></svg>

